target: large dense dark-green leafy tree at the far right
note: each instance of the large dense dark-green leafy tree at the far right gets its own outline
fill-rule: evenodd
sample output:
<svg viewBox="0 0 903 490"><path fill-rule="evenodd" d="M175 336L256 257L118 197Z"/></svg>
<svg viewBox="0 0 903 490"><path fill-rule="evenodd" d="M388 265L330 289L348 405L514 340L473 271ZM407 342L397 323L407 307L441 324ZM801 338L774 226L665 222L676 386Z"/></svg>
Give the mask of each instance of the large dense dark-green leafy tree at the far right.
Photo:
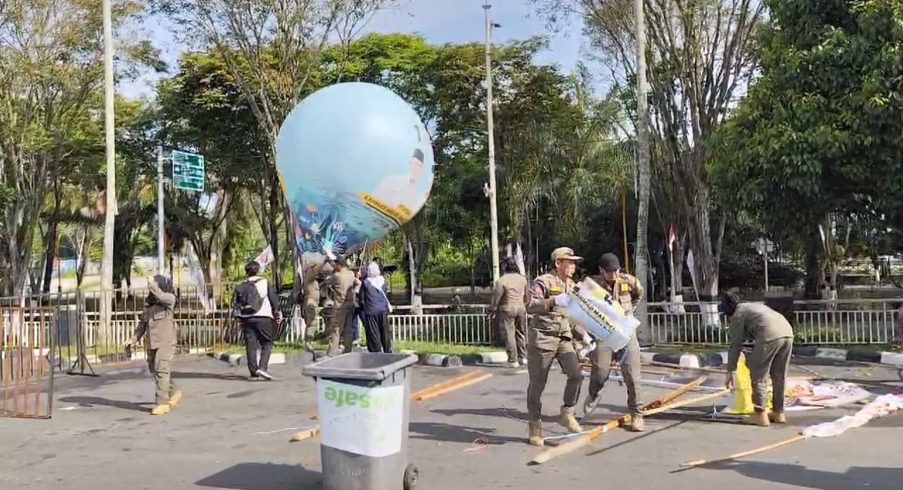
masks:
<svg viewBox="0 0 903 490"><path fill-rule="evenodd" d="M883 229L903 209L903 6L768 6L761 74L715 142L717 176L733 208L777 240L802 239L808 292L831 295L851 230Z"/></svg>

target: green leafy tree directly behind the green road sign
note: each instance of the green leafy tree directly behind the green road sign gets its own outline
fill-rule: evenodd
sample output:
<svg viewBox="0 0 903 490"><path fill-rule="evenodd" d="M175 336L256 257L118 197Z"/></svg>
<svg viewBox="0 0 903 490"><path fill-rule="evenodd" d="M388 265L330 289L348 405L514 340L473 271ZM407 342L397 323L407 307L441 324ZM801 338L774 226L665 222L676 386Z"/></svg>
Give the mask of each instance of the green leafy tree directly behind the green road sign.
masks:
<svg viewBox="0 0 903 490"><path fill-rule="evenodd" d="M204 155L205 191L173 189L167 209L170 227L191 243L205 281L213 282L220 277L222 263L215 258L222 256L228 227L239 225L238 201L257 191L266 172L265 136L216 53L182 56L179 73L164 79L157 93L160 140L167 148Z"/></svg>

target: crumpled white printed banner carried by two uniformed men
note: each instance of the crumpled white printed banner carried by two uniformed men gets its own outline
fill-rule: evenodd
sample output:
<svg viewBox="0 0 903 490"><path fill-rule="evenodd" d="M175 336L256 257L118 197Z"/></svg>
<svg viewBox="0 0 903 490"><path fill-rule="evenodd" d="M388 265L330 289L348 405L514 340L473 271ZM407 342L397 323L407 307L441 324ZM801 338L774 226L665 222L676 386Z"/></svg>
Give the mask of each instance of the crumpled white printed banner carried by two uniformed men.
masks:
<svg viewBox="0 0 903 490"><path fill-rule="evenodd" d="M568 316L600 340L602 348L619 351L627 346L639 326L639 320L624 314L618 301L590 278L570 291Z"/></svg>

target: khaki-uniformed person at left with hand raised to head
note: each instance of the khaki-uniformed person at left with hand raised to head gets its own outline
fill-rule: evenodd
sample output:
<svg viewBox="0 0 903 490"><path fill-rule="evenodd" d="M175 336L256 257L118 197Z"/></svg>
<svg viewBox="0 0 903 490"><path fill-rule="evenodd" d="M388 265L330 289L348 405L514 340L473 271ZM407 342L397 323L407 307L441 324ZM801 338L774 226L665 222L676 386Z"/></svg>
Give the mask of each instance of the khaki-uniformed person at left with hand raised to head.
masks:
<svg viewBox="0 0 903 490"><path fill-rule="evenodd" d="M175 291L172 281L163 275L147 278L147 298L144 299L144 313L135 334L126 341L126 347L134 347L146 335L147 366L154 375L156 384L156 404L151 413L164 415L182 400L182 390L170 379L170 366L175 356L176 331L172 308L175 306Z"/></svg>

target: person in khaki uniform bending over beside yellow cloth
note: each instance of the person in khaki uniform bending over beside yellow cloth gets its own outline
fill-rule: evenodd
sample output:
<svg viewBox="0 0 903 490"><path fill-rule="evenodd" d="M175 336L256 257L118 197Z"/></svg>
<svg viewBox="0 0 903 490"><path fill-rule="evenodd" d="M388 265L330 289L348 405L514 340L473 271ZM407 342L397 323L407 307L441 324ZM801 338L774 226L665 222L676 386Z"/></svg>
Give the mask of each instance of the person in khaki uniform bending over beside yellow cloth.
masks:
<svg viewBox="0 0 903 490"><path fill-rule="evenodd" d="M733 387L733 374L737 371L740 347L751 338L754 342L747 365L752 374L752 404L755 406L750 421L767 427L769 421L787 423L784 416L784 392L787 369L793 353L793 327L775 310L761 303L742 303L737 295L728 292L721 298L721 312L731 323L731 351L728 355L728 374L725 386ZM768 379L771 379L771 412L768 409Z"/></svg>

